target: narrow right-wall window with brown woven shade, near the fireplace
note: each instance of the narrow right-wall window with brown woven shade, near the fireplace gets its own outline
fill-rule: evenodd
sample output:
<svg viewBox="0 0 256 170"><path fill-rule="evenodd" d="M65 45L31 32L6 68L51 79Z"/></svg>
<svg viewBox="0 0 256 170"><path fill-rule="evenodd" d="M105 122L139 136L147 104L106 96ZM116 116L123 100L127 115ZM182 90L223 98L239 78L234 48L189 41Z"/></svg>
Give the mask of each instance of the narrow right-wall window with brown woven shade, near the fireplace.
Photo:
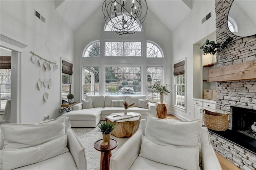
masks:
<svg viewBox="0 0 256 170"><path fill-rule="evenodd" d="M185 109L185 60L174 64L174 105Z"/></svg>

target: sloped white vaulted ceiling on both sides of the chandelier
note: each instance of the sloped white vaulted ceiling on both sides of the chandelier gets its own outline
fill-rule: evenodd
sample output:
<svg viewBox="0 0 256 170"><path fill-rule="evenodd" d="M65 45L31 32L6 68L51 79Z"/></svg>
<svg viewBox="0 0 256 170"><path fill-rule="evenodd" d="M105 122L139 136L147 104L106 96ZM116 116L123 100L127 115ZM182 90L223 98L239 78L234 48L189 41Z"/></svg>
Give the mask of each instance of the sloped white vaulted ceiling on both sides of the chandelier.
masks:
<svg viewBox="0 0 256 170"><path fill-rule="evenodd" d="M62 2L62 3L61 3ZM78 29L104 0L64 0L56 3L56 11L73 29ZM170 31L191 11L192 0L146 0L150 10ZM190 6L190 8L188 6ZM103 17L103 14L102 14Z"/></svg>

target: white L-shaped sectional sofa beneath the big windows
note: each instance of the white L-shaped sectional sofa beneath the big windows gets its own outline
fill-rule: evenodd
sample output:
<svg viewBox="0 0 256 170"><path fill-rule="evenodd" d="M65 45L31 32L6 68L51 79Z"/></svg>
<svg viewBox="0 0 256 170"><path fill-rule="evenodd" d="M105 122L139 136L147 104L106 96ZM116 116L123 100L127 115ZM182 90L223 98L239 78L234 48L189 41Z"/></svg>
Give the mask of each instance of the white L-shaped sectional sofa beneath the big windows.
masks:
<svg viewBox="0 0 256 170"><path fill-rule="evenodd" d="M129 103L135 103L127 112L136 112L142 115L141 119L145 119L146 113L156 115L156 106L148 103L148 108L138 107L139 99L146 99L146 95L98 95L86 96L86 100L92 99L93 108L82 109L83 104L78 103L73 106L73 110L65 113L70 119L71 127L96 127L100 120L105 120L105 117L111 113L123 113L124 107L111 107L111 100L126 100Z"/></svg>

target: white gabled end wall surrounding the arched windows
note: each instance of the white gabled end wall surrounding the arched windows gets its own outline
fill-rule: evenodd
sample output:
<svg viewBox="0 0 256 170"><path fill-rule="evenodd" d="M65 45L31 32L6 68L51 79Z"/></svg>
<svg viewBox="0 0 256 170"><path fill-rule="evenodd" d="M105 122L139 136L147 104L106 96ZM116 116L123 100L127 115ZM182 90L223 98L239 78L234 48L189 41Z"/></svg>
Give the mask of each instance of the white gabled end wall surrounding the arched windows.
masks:
<svg viewBox="0 0 256 170"><path fill-rule="evenodd" d="M105 24L105 20L102 14L102 6L96 10L92 16L90 16L80 28L78 28L75 32L75 59L74 63L75 65L80 65L80 55L81 51L84 49L88 43L92 42L93 40L101 40L102 39L102 29ZM146 40L152 40L164 49L165 56L166 56L166 74L164 75L165 77L165 83L171 84L172 83L172 78L171 78L171 73L172 73L172 68L171 68L171 63L172 63L172 57L171 57L171 32L166 28L162 22L160 22L153 14L148 10L148 14L146 16L146 19L143 23L143 30L144 30L144 35ZM129 38L132 37L132 35L122 35L118 36L116 34L115 38ZM100 51L103 52L103 51ZM95 59L97 60L97 59ZM98 60L97 60L98 61ZM103 64L103 63L102 63ZM147 63L149 65L154 65L154 62L152 63ZM100 63L98 63L100 65ZM75 82L80 82L80 68L76 67L74 69L74 75L75 75ZM80 84L76 83L75 85L75 100L79 101L80 100ZM171 97L166 97L166 102L170 103L171 102Z"/></svg>

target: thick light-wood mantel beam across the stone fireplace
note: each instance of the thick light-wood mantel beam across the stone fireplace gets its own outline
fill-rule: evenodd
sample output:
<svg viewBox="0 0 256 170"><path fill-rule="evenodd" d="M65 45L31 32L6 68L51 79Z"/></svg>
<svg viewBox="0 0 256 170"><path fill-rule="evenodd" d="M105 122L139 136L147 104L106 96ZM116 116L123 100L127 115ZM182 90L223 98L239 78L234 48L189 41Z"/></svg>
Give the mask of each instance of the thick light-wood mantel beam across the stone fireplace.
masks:
<svg viewBox="0 0 256 170"><path fill-rule="evenodd" d="M208 82L256 79L256 60L208 70Z"/></svg>

